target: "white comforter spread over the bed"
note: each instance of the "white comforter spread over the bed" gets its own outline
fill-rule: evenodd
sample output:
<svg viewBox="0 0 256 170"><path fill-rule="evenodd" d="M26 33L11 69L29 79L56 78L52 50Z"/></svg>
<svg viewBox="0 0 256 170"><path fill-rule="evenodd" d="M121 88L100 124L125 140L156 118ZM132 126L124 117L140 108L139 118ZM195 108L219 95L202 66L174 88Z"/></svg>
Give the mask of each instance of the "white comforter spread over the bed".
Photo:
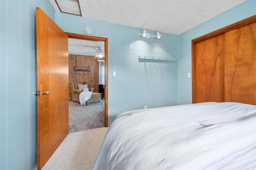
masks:
<svg viewBox="0 0 256 170"><path fill-rule="evenodd" d="M256 106L164 107L116 119L93 170L216 170L256 166Z"/></svg>

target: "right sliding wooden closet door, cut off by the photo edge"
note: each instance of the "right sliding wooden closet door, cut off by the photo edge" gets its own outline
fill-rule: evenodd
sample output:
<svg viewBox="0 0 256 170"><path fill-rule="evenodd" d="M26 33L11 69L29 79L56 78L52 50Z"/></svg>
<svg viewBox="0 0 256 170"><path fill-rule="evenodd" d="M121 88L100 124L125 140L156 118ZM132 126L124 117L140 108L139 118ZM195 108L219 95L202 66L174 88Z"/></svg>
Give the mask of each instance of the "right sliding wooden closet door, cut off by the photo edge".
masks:
<svg viewBox="0 0 256 170"><path fill-rule="evenodd" d="M225 33L225 102L256 105L256 22Z"/></svg>

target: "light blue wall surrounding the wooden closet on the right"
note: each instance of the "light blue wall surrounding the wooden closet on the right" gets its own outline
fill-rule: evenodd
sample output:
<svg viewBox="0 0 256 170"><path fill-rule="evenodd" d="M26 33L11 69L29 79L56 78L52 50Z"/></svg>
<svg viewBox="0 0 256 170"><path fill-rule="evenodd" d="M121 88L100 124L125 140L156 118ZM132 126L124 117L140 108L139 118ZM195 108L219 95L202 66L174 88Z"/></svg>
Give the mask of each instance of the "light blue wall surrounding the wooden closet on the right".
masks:
<svg viewBox="0 0 256 170"><path fill-rule="evenodd" d="M256 15L256 0L248 0L179 35L179 104L192 103L192 79L187 77L187 73L192 72L192 39L254 15Z"/></svg>

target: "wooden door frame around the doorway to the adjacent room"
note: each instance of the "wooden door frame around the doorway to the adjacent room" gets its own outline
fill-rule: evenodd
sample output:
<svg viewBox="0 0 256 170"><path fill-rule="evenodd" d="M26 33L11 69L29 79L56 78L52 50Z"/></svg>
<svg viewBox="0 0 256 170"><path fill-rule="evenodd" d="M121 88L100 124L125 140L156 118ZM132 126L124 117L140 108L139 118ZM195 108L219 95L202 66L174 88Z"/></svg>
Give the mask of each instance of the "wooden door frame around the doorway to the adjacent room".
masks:
<svg viewBox="0 0 256 170"><path fill-rule="evenodd" d="M108 127L108 39L103 37L94 37L89 35L81 35L75 33L66 33L68 38L82 39L89 41L104 41L104 54L105 54L105 87L104 87L104 97L105 97L105 127Z"/></svg>

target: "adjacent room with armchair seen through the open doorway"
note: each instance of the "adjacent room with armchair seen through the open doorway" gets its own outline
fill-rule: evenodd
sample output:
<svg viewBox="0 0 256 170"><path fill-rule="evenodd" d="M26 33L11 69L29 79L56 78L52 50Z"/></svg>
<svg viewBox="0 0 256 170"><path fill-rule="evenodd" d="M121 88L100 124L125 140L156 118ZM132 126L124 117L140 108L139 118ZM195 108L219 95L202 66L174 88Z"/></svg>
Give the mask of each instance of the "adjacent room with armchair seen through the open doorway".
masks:
<svg viewBox="0 0 256 170"><path fill-rule="evenodd" d="M69 133L104 127L104 42L69 38L68 59Z"/></svg>

